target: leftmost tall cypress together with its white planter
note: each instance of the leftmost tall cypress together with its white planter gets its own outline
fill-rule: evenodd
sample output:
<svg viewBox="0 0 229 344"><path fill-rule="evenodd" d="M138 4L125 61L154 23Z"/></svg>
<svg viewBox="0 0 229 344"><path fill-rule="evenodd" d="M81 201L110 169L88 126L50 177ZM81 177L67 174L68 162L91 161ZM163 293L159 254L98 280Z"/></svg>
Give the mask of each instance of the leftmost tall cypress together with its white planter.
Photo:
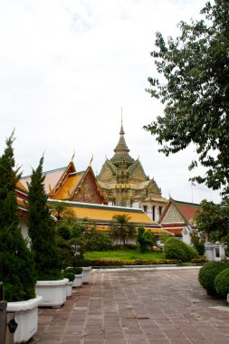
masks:
<svg viewBox="0 0 229 344"><path fill-rule="evenodd" d="M15 314L14 341L20 343L31 339L37 331L37 307L42 297L36 297L33 253L18 225L20 213L15 189L20 173L14 169L14 132L5 142L0 157L0 281L4 283L6 311Z"/></svg>

